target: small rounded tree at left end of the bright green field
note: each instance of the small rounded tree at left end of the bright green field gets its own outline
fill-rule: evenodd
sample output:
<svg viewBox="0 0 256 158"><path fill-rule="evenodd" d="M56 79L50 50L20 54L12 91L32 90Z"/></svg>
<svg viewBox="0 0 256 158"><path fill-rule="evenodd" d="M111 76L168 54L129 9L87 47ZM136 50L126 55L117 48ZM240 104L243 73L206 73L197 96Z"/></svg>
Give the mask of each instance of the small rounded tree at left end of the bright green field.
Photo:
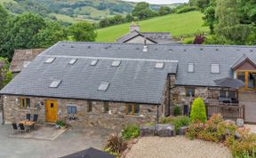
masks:
<svg viewBox="0 0 256 158"><path fill-rule="evenodd" d="M73 24L69 32L75 41L93 42L97 36L95 26L85 21Z"/></svg>

